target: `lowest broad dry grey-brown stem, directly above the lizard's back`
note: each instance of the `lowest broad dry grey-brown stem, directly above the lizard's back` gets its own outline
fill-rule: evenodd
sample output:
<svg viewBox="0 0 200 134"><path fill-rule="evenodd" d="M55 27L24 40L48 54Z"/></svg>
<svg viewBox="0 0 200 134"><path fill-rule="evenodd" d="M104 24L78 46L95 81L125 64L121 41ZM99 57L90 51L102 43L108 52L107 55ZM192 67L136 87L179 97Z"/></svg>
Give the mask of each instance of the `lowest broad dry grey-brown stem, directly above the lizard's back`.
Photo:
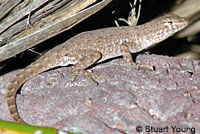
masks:
<svg viewBox="0 0 200 134"><path fill-rule="evenodd" d="M49 25L44 28L40 28L40 30L28 34L27 36L20 38L16 41L8 43L7 45L1 47L0 49L0 62L19 54L36 44L49 39L63 31L70 29L72 26L80 23L84 19L88 18L92 14L96 13L97 11L101 10L107 4L109 4L112 0L104 0L100 3L97 3L85 10L82 10L76 14L71 14L72 16L68 16L67 18L62 18L62 20L58 20L56 23ZM86 6L84 4L84 6ZM76 8L80 10L80 4ZM84 9L82 7L81 9Z"/></svg>

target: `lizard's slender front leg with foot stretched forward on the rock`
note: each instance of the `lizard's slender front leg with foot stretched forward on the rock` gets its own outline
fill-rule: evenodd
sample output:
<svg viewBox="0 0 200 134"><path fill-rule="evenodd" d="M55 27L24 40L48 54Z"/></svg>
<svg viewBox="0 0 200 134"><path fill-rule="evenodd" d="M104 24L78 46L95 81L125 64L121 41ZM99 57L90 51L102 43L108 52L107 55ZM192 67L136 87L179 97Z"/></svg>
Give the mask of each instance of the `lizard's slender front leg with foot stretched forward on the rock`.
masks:
<svg viewBox="0 0 200 134"><path fill-rule="evenodd" d="M145 67L145 68L149 68L151 70L154 70L153 66L151 66L151 65L142 65L142 64L139 64L139 63L136 63L136 62L133 61L131 51L129 50L129 47L128 47L128 43L122 43L120 48L121 48L121 53L122 53L124 60L130 66L135 67L137 69L140 68L140 67Z"/></svg>

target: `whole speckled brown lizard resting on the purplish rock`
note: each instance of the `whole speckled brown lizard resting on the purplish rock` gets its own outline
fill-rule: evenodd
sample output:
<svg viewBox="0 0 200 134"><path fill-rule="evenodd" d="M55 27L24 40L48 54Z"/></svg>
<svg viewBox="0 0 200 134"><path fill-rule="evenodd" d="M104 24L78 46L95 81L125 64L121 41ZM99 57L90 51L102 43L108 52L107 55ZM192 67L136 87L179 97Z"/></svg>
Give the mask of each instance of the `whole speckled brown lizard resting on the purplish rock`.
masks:
<svg viewBox="0 0 200 134"><path fill-rule="evenodd" d="M16 94L20 87L30 78L55 67L72 64L70 72L72 81L77 75L86 75L98 84L98 75L88 67L106 59L121 56L132 67L147 67L132 59L131 53L137 53L170 37L188 25L188 20L173 13L165 14L138 26L121 26L102 28L82 32L66 42L46 52L38 60L22 69L10 81L6 100L12 118L18 123L25 123L16 106Z"/></svg>

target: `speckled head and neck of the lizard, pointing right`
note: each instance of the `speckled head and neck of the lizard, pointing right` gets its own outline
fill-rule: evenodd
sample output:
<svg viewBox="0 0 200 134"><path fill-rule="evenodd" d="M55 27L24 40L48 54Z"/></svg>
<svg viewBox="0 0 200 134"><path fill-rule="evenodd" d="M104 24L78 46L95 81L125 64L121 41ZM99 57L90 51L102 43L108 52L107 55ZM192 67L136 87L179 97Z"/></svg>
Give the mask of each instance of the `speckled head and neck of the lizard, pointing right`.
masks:
<svg viewBox="0 0 200 134"><path fill-rule="evenodd" d="M187 25L188 20L186 18L173 13L165 14L141 26L144 29L143 34L146 36L143 41L146 41L146 46L148 47L152 43L155 44L165 40Z"/></svg>

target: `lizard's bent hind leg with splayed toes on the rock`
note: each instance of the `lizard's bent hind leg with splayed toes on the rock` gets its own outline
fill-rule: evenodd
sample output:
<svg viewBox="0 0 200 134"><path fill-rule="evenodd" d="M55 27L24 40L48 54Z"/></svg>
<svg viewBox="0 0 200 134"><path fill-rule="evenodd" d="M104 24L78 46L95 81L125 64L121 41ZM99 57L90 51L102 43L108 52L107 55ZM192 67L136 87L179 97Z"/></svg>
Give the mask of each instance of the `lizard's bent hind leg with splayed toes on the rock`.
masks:
<svg viewBox="0 0 200 134"><path fill-rule="evenodd" d="M72 82L75 81L77 75L86 75L91 82L98 85L95 79L103 79L98 75L94 74L92 71L85 70L95 62L101 59L101 53L99 51L87 51L84 56L71 68L71 73L73 74Z"/></svg>

